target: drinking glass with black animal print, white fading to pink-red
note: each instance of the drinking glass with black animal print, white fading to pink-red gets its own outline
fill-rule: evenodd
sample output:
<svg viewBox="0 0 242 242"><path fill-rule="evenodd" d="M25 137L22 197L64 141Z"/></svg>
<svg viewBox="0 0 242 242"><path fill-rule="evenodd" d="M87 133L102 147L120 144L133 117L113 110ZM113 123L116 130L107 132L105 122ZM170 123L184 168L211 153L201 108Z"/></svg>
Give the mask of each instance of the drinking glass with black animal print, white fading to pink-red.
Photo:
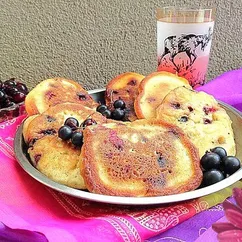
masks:
<svg viewBox="0 0 242 242"><path fill-rule="evenodd" d="M176 73L192 87L206 82L214 9L164 7L157 10L158 71Z"/></svg>

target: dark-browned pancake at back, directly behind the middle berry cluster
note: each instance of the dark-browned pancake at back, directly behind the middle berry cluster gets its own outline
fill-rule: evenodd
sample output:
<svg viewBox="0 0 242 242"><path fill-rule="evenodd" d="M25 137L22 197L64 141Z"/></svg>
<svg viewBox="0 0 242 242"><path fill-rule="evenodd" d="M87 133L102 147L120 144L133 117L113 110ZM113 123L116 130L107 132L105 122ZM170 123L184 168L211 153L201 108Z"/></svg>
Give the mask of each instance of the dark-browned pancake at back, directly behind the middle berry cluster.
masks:
<svg viewBox="0 0 242 242"><path fill-rule="evenodd" d="M126 72L112 79L106 86L105 101L110 110L113 110L113 103L122 99L126 103L126 120L137 119L134 112L134 100L138 95L138 87L145 76L135 72Z"/></svg>

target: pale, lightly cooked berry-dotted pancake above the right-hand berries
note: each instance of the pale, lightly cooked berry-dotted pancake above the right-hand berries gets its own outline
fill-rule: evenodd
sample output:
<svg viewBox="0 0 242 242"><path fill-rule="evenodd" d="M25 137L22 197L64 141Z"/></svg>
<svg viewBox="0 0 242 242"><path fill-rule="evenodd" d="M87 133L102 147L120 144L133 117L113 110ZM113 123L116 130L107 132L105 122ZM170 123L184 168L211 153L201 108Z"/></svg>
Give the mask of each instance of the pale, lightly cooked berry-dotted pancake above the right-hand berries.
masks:
<svg viewBox="0 0 242 242"><path fill-rule="evenodd" d="M156 109L156 118L173 123L198 147L200 157L220 146L235 155L232 121L215 98L205 92L178 87Z"/></svg>

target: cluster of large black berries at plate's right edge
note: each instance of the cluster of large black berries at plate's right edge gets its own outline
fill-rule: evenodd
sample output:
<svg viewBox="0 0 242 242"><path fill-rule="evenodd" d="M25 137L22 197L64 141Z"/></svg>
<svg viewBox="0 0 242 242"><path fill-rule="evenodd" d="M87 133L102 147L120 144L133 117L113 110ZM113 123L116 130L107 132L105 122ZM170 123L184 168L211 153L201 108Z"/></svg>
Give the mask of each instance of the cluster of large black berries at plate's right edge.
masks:
<svg viewBox="0 0 242 242"><path fill-rule="evenodd" d="M203 186L210 186L239 170L241 163L235 156L227 156L222 147L215 147L201 158L203 173Z"/></svg>

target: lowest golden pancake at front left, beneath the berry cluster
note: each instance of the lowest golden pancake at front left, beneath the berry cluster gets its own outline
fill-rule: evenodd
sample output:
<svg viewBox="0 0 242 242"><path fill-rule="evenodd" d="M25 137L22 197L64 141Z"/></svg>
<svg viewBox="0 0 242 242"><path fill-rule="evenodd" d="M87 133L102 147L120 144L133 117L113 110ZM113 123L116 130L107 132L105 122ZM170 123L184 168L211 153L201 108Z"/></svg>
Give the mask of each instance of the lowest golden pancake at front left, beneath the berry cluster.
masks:
<svg viewBox="0 0 242 242"><path fill-rule="evenodd" d="M80 175L81 149L57 136L45 136L28 149L33 165L51 180L69 187L85 189Z"/></svg>

